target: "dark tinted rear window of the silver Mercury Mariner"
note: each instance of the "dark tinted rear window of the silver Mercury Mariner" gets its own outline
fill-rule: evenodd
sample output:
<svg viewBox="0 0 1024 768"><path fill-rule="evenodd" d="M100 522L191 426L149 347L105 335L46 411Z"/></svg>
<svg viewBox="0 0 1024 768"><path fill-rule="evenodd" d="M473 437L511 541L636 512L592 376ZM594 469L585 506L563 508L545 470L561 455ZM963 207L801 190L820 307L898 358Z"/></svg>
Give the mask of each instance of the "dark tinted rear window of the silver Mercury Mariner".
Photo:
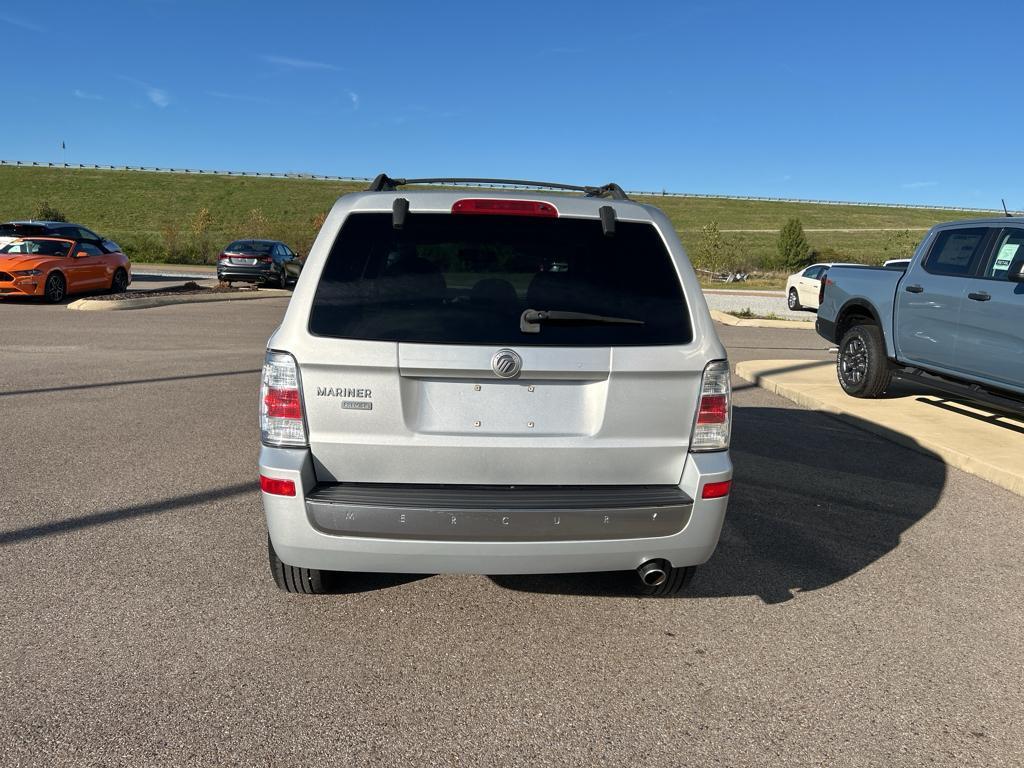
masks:
<svg viewBox="0 0 1024 768"><path fill-rule="evenodd" d="M639 323L542 322L526 309ZM679 278L652 224L596 219L351 214L309 314L317 336L425 344L637 346L692 338Z"/></svg>

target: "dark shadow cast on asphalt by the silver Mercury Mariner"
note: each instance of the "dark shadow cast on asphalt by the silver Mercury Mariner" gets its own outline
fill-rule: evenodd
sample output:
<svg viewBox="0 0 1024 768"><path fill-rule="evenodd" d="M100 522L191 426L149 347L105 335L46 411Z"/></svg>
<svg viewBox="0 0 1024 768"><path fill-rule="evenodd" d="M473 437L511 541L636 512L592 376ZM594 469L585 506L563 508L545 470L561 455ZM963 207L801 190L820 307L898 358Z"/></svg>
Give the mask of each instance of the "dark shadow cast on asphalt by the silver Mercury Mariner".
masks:
<svg viewBox="0 0 1024 768"><path fill-rule="evenodd" d="M682 598L756 595L766 603L821 589L899 546L938 503L946 467L814 411L736 407L733 490L715 554ZM633 594L632 573L492 577L507 589Z"/></svg>

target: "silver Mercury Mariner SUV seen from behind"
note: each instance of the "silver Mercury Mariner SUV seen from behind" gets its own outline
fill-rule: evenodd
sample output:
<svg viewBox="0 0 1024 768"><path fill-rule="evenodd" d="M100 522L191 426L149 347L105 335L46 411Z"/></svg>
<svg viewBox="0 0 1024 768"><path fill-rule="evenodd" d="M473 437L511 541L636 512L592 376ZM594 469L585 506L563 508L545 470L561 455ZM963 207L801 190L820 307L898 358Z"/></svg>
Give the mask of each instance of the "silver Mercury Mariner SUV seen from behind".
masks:
<svg viewBox="0 0 1024 768"><path fill-rule="evenodd" d="M339 199L267 344L278 586L633 570L678 593L718 543L731 408L669 219L613 184L427 182L494 180Z"/></svg>

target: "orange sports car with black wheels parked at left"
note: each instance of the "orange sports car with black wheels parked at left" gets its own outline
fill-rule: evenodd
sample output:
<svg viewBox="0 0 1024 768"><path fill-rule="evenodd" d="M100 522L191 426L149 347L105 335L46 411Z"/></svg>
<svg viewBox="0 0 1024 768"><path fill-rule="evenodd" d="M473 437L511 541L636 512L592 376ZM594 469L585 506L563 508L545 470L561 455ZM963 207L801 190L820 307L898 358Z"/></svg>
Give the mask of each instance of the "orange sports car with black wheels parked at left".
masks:
<svg viewBox="0 0 1024 768"><path fill-rule="evenodd" d="M0 296L42 296L56 303L73 293L120 293L130 283L128 257L90 242L18 238L0 247Z"/></svg>

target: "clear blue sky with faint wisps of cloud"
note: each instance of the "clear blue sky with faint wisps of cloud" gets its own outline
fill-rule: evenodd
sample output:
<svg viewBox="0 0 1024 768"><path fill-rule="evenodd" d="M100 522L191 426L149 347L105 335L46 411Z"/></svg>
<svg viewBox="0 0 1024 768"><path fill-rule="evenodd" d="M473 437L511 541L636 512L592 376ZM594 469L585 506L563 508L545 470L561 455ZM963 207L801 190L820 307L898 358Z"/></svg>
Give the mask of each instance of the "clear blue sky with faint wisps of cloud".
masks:
<svg viewBox="0 0 1024 768"><path fill-rule="evenodd" d="M1020 2L4 0L0 158L1024 208L1021 29Z"/></svg>

